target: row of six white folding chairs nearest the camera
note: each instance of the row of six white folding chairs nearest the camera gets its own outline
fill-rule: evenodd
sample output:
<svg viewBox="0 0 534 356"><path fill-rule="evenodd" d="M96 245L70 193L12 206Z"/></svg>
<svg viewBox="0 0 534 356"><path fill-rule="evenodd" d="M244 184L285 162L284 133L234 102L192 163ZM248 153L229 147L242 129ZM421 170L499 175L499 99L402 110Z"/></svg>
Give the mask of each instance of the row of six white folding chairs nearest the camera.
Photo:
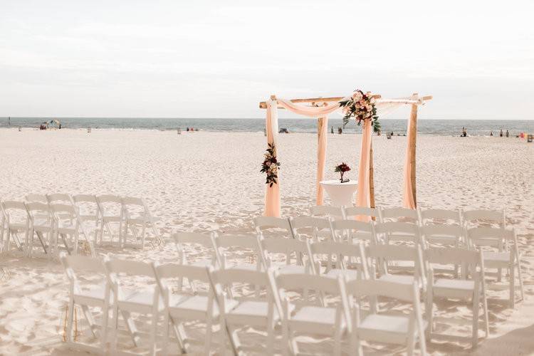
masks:
<svg viewBox="0 0 534 356"><path fill-rule="evenodd" d="M426 352L419 288L415 283L345 278L342 274L323 276L314 273L281 273L276 268L268 268L266 272L239 266L214 268L181 263L159 265L66 255L62 256L61 261L70 281L68 342L72 342L72 310L75 305L81 305L85 307L83 311L90 324L90 331L93 336L100 338L101 352L108 350L108 342L111 344L110 352L117 350L119 315L125 320L127 333L134 344L140 346L142 333L137 330L132 313L152 316L147 342L152 355L157 351L163 355L169 352L169 326L172 326L170 329L179 352L187 352L194 340L187 337L184 322L192 320L206 323L206 337L201 340L204 342L205 354L216 350L212 343L214 324L219 324L217 348L221 355L226 352L226 338L229 339L234 354L249 350L250 347L241 345L236 332L237 328L243 326L266 329L268 336L263 350L273 355L275 344L278 343L275 342L278 325L281 326L282 334L280 351L284 355L288 352L298 354L298 343L293 338L295 332L333 337L335 355L341 353L342 340L348 342L349 353L354 355L362 354L362 340L406 345L409 355L412 355L416 342L419 342L422 354ZM90 289L91 292L85 291L87 286L82 286L81 281L88 279L78 278L78 270L105 275L105 287L102 287L102 281L95 281L93 276L89 280L95 285ZM140 286L136 286L135 290L125 288L125 283L122 283L125 275L130 275L137 281L140 276L150 279L145 286L147 289L140 291ZM186 293L182 284L184 278L190 286L200 282L204 288L197 284L197 288ZM253 286L250 293L243 287L244 283ZM179 286L178 290L174 290L174 286ZM244 293L237 293L240 289ZM177 293L173 293L173 290ZM299 298L295 299L294 293L299 293ZM409 304L410 313L382 315L376 303L377 296ZM369 310L360 310L358 302L362 297L370 297ZM95 318L89 306L103 310L100 327L94 323ZM164 317L161 342L157 342L160 334L159 315ZM397 327L392 328L392 323ZM89 348L88 345L77 347ZM257 350L257 345L251 348Z"/></svg>

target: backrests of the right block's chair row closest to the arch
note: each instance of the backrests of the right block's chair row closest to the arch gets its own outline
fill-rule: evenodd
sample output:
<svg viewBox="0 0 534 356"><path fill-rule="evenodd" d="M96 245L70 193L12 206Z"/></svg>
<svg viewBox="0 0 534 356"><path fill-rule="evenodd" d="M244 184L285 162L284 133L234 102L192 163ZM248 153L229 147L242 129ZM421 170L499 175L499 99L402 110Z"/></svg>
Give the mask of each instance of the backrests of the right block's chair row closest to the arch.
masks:
<svg viewBox="0 0 534 356"><path fill-rule="evenodd" d="M455 224L471 228L479 222L493 224L493 226L506 229L506 214L504 210L472 209L407 209L407 208L365 208L360 206L312 206L312 216L332 216L335 219L352 219L356 216L369 216L375 221L409 221L419 225L429 225L439 222L441 224Z"/></svg>

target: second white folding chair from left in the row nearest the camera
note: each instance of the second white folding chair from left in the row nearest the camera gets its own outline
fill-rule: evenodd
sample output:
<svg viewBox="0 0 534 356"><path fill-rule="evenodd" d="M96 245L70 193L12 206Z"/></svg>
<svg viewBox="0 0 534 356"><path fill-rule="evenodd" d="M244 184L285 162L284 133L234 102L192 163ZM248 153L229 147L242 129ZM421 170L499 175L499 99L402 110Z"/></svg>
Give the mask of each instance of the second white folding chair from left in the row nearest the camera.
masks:
<svg viewBox="0 0 534 356"><path fill-rule="evenodd" d="M142 333L137 329L130 313L139 313L151 315L150 340L147 348L150 355L156 355L157 352L157 324L159 314L164 311L164 304L159 294L157 286L154 263L145 263L140 261L104 259L104 266L108 283L112 290L112 305L108 304L108 314L104 315L103 328L107 330L109 310L112 308L112 353L117 353L117 340L119 337L119 313L127 325L127 329L132 336L132 341L136 347L141 347ZM145 280L145 286L140 286L139 281ZM127 285L133 285L135 288L127 288ZM108 303L110 303L108 301Z"/></svg>

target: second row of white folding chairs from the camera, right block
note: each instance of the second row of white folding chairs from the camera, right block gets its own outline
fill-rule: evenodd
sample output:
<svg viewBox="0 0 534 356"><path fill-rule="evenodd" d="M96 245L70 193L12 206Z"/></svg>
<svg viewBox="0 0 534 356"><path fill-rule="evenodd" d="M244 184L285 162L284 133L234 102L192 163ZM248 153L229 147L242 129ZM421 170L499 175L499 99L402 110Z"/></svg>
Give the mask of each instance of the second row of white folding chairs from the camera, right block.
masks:
<svg viewBox="0 0 534 356"><path fill-rule="evenodd" d="M352 221L353 224L362 224ZM314 241L308 239L285 239L281 237L264 238L263 236L235 236L224 234L219 236L200 233L177 233L173 235L179 251L179 261L195 266L214 266L219 268L247 268L249 271L266 271L275 269L278 273L314 273L336 278L344 276L347 280L377 278L379 281L402 284L415 283L418 289L426 295L426 310L429 325L432 321L432 300L434 298L456 298L471 300L473 308L472 340L473 346L478 342L479 308L483 309L483 324L486 336L488 335L488 309L486 303L486 287L484 280L483 254L481 251L468 251L461 248L431 247L422 251L419 245L397 246L386 244L369 244L362 248L362 241L356 244L349 241ZM206 261L192 261L187 258L187 245L192 246L191 251L202 249L204 253L212 249ZM255 265L244 263L239 259L231 263L228 252L239 251L239 256L248 254L257 256ZM283 254L283 258L276 256ZM281 260L283 263L280 263ZM277 263L278 262L278 263ZM390 273L391 263L412 263L411 275L398 275ZM440 268L435 268L439 265ZM444 270L444 265L452 268ZM457 266L461 266L459 273ZM434 282L434 271L439 272L439 278ZM455 276L455 279L444 278L443 272ZM379 273L378 273L379 272ZM468 278L469 277L469 278ZM364 279L365 279L364 278ZM428 282L427 282L428 280ZM435 286L435 287L434 287ZM456 323L461 320L456 320ZM427 329L429 337L435 335Z"/></svg>

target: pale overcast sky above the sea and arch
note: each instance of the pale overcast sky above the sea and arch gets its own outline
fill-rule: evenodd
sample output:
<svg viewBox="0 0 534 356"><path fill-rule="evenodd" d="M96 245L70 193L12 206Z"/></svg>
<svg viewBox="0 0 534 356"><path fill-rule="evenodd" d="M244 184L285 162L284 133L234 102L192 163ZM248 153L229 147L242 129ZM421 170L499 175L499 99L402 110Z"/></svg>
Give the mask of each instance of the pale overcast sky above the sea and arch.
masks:
<svg viewBox="0 0 534 356"><path fill-rule="evenodd" d="M532 120L533 14L530 0L0 0L0 116L263 117L271 94L360 88L434 95L423 119Z"/></svg>

